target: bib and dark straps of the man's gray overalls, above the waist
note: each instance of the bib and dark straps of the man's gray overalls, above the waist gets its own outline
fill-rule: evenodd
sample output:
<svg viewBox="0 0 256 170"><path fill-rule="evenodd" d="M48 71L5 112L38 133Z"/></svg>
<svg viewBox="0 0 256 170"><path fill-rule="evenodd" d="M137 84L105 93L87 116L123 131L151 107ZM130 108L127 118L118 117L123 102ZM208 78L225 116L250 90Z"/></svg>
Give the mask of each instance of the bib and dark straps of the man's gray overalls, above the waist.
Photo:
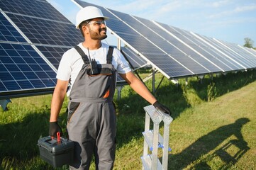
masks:
<svg viewBox="0 0 256 170"><path fill-rule="evenodd" d="M74 81L70 96L72 98L113 98L116 87L116 71L112 65L113 47L108 49L107 63L96 65L97 74L93 74L91 60L82 49L78 46L75 48L82 56L84 66Z"/></svg>

